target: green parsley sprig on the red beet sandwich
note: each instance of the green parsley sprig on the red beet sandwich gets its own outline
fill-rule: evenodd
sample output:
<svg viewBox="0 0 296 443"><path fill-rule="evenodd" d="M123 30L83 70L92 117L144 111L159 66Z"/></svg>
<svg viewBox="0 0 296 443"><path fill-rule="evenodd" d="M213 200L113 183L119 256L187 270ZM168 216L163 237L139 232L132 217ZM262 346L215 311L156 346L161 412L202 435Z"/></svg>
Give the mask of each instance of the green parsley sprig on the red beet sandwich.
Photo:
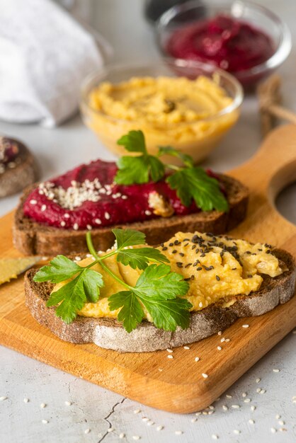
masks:
<svg viewBox="0 0 296 443"><path fill-rule="evenodd" d="M156 156L148 154L142 131L130 131L118 140L118 144L125 146L129 152L136 152L138 156L123 156L118 160L118 172L115 183L132 185L133 183L157 182L166 175L166 168L173 171L166 177L171 189L176 190L183 205L190 206L192 200L203 211L227 212L227 199L220 190L216 178L207 175L203 168L194 166L192 157L183 154L171 146L159 146ZM169 155L178 157L183 166L165 165L160 156Z"/></svg>

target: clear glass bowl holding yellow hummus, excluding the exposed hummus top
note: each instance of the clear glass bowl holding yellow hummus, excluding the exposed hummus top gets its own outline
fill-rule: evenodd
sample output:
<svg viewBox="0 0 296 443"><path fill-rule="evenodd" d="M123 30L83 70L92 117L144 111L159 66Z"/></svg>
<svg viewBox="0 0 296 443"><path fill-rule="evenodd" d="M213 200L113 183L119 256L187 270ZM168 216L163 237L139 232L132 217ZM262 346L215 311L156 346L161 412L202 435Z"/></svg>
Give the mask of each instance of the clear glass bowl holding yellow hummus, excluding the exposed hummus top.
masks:
<svg viewBox="0 0 296 443"><path fill-rule="evenodd" d="M227 106L213 113L210 117L198 121L167 122L161 121L161 115L155 122L115 118L107 112L93 106L93 91L103 82L118 84L129 81L132 77L186 77L193 80L205 76L215 81L226 92ZM212 100L207 97L205 100ZM142 130L149 153L156 154L158 146L173 146L184 154L193 156L195 162L203 160L217 146L222 137L237 122L239 108L243 100L243 91L239 82L230 74L217 69L211 64L191 62L180 59L154 60L142 64L110 65L88 76L81 89L81 114L86 126L98 136L105 146L119 156L129 155L118 139L131 130ZM166 161L165 157L161 157ZM178 164L178 159L170 157L170 162Z"/></svg>

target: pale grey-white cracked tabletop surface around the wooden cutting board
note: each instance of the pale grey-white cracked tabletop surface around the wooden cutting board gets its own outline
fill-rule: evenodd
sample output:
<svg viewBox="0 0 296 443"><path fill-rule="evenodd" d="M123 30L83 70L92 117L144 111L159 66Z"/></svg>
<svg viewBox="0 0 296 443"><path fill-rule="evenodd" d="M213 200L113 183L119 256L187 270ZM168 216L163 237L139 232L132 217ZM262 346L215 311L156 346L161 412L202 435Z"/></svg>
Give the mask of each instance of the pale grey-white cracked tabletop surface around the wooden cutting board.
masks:
<svg viewBox="0 0 296 443"><path fill-rule="evenodd" d="M295 0L261 0L261 4L280 13L287 21L296 47ZM139 0L95 1L93 24L113 44L118 62L147 59L157 54L152 30L144 23L141 9ZM295 59L294 48L280 69L285 104L294 110ZM56 130L0 122L0 132L19 137L30 146L38 156L42 178L98 156L112 159L78 116ZM227 171L254 154L259 143L257 103L254 98L247 98L237 127L205 165ZM280 155L284 152L285 146ZM294 184L281 192L277 205L280 212L296 224L295 197ZM18 196L1 200L0 214L13 209L17 199ZM153 410L0 347L0 397L7 397L0 401L0 442L112 443L133 442L133 436L140 436L141 442L204 443L213 441L212 435L218 435L219 441L225 443L292 443L296 441L296 404L292 403L292 396L296 396L295 345L296 335L290 333L228 390L232 398L222 396L215 403L215 413L198 417ZM259 384L256 384L257 378L261 378ZM266 393L256 393L258 387L266 389ZM244 392L251 398L250 403L244 403L241 396ZM29 402L24 403L24 398L29 398ZM71 401L72 405L65 405L65 401ZM46 407L40 408L41 403L46 403ZM239 404L241 408L232 409L232 404ZM224 411L222 405L228 405L229 410ZM251 405L256 405L256 410L251 411ZM135 414L137 409L141 412ZM276 419L276 415L280 415L280 419ZM149 422L144 422L143 417L152 420L154 425L147 425ZM195 418L197 421L192 422ZM42 420L48 423L43 424ZM254 424L249 420L254 420ZM158 425L164 429L157 431ZM110 427L114 430L107 432ZM271 427L277 430L275 434ZM85 430L90 432L85 434ZM183 434L176 435L178 430ZM234 430L241 433L234 434ZM121 432L125 434L123 440L119 439Z"/></svg>

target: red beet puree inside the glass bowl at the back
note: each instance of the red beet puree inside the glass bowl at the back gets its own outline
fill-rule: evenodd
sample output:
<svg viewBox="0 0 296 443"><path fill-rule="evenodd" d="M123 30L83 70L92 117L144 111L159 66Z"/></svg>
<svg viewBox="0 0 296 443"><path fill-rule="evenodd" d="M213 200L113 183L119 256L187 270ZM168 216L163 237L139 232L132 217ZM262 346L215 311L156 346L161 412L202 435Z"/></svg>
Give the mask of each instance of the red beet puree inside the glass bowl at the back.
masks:
<svg viewBox="0 0 296 443"><path fill-rule="evenodd" d="M176 30L166 50L173 57L212 62L234 73L266 62L274 53L263 30L224 15Z"/></svg>

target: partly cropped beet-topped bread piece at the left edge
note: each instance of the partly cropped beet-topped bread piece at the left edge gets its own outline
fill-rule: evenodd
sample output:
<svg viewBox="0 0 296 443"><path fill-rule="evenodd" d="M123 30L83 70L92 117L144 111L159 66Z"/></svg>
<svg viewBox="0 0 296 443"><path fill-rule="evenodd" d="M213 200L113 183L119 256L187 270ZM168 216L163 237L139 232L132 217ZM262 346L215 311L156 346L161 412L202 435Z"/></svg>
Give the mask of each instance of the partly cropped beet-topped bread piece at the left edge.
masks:
<svg viewBox="0 0 296 443"><path fill-rule="evenodd" d="M33 155L21 142L0 137L0 197L15 194L37 179Z"/></svg>

